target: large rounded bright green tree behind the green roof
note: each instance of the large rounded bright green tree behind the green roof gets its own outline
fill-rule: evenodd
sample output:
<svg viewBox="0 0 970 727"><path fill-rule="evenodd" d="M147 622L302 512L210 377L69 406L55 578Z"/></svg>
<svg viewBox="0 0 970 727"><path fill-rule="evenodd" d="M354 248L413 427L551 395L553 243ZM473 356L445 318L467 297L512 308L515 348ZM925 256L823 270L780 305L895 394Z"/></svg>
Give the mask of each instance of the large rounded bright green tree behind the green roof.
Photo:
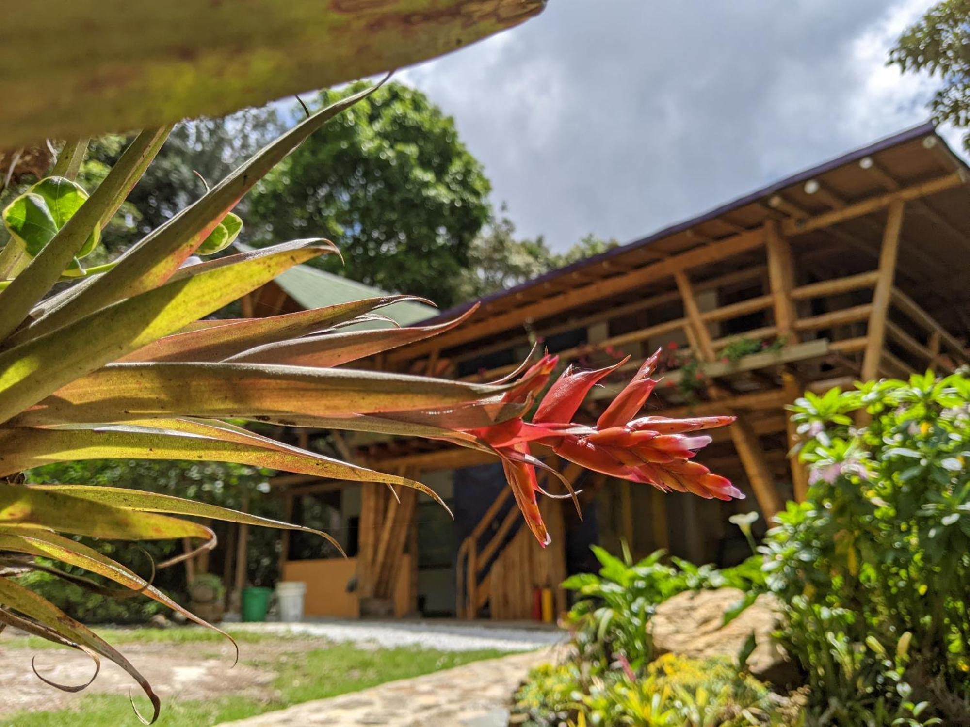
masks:
<svg viewBox="0 0 970 727"><path fill-rule="evenodd" d="M321 92L318 105L348 93ZM454 121L420 91L388 83L308 139L251 201L257 243L307 232L340 240L323 269L448 305L489 216L491 185Z"/></svg>

